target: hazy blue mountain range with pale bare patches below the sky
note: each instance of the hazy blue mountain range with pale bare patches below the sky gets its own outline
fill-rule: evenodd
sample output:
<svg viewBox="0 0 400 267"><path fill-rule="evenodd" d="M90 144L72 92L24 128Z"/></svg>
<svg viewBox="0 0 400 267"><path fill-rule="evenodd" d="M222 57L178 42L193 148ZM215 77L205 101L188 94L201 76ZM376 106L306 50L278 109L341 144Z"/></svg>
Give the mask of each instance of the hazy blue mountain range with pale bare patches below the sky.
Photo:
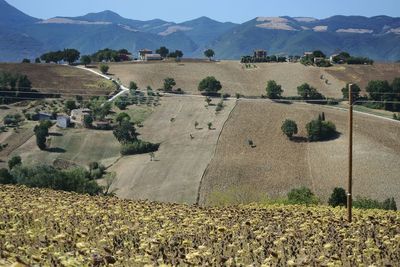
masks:
<svg viewBox="0 0 400 267"><path fill-rule="evenodd" d="M321 49L327 54L344 50L375 60L396 61L400 59L400 18L257 17L235 24L200 17L174 23L127 19L103 11L41 20L0 0L0 61L33 59L64 48L89 54L103 48L136 52L163 45L182 50L186 57L202 57L205 48L214 49L220 59L238 59L257 48L283 55Z"/></svg>

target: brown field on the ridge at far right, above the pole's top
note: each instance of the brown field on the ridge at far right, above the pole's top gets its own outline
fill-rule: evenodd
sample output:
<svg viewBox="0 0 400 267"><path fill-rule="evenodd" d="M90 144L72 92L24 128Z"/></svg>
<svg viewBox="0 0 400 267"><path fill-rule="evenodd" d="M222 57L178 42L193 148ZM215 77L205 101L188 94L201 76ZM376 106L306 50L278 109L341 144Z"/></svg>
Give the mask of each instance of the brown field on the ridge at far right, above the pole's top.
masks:
<svg viewBox="0 0 400 267"><path fill-rule="evenodd" d="M326 69L326 71L344 82L353 82L364 90L371 80L388 80L400 77L399 63L375 63L369 65L343 65Z"/></svg>

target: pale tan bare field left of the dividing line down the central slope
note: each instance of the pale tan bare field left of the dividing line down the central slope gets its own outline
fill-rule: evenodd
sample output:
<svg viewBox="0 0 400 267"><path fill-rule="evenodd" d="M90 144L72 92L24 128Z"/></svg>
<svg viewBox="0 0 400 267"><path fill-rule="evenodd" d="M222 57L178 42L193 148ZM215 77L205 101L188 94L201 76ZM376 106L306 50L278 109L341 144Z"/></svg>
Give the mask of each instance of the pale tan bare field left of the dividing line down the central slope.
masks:
<svg viewBox="0 0 400 267"><path fill-rule="evenodd" d="M218 100L214 100L218 101ZM164 97L140 128L140 138L161 143L151 161L148 154L121 158L110 171L118 197L193 204L204 170L213 157L219 134L235 101L215 113L204 97ZM199 123L195 129L195 122ZM207 124L212 122L212 129ZM193 138L191 138L191 136Z"/></svg>

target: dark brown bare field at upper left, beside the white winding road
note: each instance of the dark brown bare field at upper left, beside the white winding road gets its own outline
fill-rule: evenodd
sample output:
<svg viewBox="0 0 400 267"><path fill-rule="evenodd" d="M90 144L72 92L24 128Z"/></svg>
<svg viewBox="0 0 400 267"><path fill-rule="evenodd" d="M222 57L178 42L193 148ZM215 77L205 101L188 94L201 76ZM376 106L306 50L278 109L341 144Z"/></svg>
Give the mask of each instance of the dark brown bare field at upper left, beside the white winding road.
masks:
<svg viewBox="0 0 400 267"><path fill-rule="evenodd" d="M25 74L32 87L44 93L107 95L115 89L110 81L64 65L0 63L0 71Z"/></svg>

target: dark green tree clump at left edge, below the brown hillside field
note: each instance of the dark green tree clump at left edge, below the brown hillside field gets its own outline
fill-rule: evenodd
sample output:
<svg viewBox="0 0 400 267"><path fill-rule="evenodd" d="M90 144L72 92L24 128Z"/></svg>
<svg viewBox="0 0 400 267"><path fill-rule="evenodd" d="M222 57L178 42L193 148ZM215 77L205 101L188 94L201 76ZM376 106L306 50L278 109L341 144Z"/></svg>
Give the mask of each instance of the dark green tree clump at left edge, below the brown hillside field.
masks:
<svg viewBox="0 0 400 267"><path fill-rule="evenodd" d="M20 73L0 71L0 103L10 104L31 98L42 98L32 89L32 83L28 76Z"/></svg>

